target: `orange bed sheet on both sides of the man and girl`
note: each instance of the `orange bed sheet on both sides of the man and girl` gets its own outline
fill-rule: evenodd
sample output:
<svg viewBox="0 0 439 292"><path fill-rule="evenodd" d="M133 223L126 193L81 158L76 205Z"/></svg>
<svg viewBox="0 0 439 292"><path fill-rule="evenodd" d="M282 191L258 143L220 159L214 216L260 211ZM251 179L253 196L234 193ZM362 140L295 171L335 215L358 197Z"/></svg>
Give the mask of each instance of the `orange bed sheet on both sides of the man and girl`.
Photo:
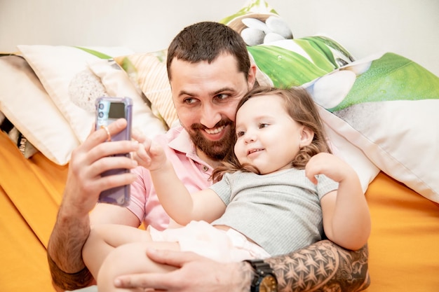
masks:
<svg viewBox="0 0 439 292"><path fill-rule="evenodd" d="M22 157L0 133L0 283L2 292L54 291L46 246L67 166L41 153ZM372 214L367 292L439 288L439 205L380 172L366 193Z"/></svg>

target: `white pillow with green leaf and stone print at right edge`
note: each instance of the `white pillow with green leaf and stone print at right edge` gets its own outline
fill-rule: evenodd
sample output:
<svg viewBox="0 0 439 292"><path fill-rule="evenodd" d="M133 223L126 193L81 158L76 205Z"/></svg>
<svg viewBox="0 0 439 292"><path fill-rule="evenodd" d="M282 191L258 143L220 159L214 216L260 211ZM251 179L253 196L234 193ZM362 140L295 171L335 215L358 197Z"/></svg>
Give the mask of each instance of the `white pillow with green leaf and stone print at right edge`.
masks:
<svg viewBox="0 0 439 292"><path fill-rule="evenodd" d="M439 77L400 55L358 60L306 84L325 123L374 165L439 202Z"/></svg>

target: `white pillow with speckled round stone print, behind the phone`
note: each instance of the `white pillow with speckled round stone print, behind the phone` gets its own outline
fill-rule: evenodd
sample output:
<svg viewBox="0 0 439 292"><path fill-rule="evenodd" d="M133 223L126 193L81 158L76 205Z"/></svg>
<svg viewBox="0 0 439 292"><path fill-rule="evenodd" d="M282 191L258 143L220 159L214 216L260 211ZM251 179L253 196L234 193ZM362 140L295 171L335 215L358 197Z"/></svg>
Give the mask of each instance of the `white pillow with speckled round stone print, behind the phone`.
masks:
<svg viewBox="0 0 439 292"><path fill-rule="evenodd" d="M94 121L94 100L104 95L98 78L93 78L88 62L133 53L128 48L77 48L71 46L18 46L34 69L50 99L69 122L79 141L84 141ZM78 98L81 97L81 98Z"/></svg>

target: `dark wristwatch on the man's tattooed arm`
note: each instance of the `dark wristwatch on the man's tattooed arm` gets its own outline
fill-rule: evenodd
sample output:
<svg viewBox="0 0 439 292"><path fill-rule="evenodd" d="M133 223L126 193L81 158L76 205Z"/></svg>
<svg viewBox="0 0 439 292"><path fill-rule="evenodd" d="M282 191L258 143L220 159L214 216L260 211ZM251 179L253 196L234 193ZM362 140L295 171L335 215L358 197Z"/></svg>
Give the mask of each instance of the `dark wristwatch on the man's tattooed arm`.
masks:
<svg viewBox="0 0 439 292"><path fill-rule="evenodd" d="M255 276L252 279L251 292L277 292L278 280L268 263L264 260L245 260L250 263L255 270Z"/></svg>

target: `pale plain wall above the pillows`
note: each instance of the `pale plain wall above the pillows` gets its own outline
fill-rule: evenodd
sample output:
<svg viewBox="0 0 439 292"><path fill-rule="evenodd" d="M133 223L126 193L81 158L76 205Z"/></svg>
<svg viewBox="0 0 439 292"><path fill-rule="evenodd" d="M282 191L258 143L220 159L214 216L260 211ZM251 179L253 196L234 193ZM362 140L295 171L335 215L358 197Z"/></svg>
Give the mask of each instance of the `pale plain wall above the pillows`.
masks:
<svg viewBox="0 0 439 292"><path fill-rule="evenodd" d="M0 0L0 51L18 44L161 50L184 26L221 20L241 0ZM357 58L408 57L439 76L438 0L269 0L295 37L326 34Z"/></svg>

